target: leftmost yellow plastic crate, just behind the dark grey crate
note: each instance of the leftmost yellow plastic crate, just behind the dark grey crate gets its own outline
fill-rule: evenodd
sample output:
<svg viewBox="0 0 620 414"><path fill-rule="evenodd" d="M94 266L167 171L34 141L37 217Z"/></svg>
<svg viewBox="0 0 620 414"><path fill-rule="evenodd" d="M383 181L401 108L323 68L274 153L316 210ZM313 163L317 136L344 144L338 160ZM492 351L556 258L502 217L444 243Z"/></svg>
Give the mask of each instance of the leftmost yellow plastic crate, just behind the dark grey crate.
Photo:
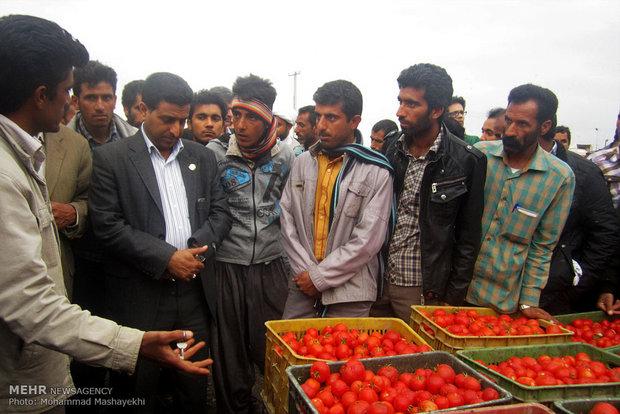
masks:
<svg viewBox="0 0 620 414"><path fill-rule="evenodd" d="M271 414L288 412L288 377L286 368L291 365L312 364L316 358L307 358L297 353L282 340L280 334L295 332L300 339L308 328L321 330L327 326L344 323L349 329L358 329L365 332L396 331L416 345L428 345L410 326L397 318L319 318L319 319L290 319L282 321L268 321L267 326L267 353L265 356L265 385L262 392L263 402ZM282 349L280 355L275 347Z"/></svg>

